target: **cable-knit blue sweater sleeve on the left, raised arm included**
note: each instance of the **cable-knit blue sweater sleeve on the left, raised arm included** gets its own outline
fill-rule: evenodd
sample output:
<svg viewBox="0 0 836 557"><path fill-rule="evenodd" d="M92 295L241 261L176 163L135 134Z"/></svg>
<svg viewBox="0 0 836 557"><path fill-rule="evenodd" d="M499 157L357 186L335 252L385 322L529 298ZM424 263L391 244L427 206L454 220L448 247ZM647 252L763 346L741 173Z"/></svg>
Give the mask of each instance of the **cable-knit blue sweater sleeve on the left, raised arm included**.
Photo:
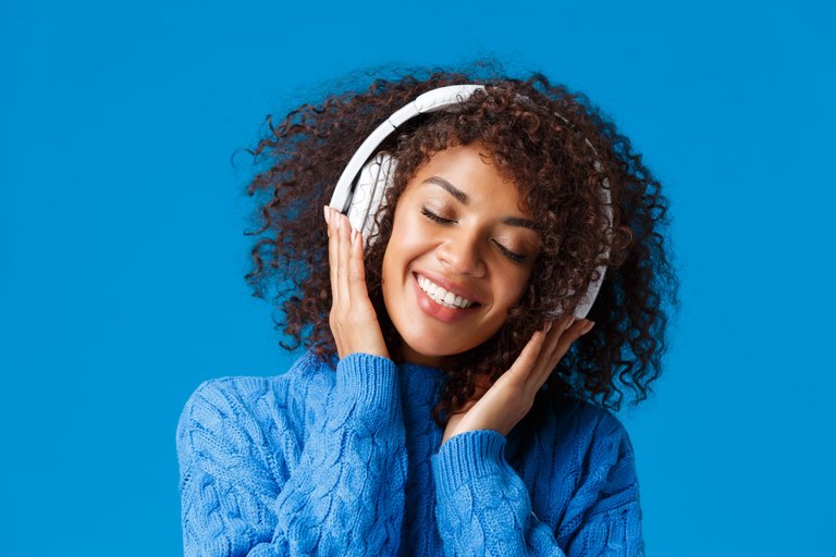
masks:
<svg viewBox="0 0 836 557"><path fill-rule="evenodd" d="M332 389L306 393L328 400L304 446L287 400L270 400L265 420L241 385L198 387L177 426L185 555L395 555L406 481L396 381L391 360L341 360Z"/></svg>

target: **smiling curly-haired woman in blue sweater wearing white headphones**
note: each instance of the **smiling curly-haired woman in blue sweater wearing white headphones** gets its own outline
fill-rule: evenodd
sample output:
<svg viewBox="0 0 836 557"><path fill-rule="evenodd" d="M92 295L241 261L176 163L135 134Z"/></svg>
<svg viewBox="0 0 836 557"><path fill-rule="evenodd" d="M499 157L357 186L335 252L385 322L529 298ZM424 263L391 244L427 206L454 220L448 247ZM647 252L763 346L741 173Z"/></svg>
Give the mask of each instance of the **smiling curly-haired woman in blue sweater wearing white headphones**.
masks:
<svg viewBox="0 0 836 557"><path fill-rule="evenodd" d="M386 121L364 236L332 196ZM435 72L303 106L255 152L248 280L307 351L186 404L186 555L641 555L607 408L659 376L676 278L660 184L615 126L541 75Z"/></svg>

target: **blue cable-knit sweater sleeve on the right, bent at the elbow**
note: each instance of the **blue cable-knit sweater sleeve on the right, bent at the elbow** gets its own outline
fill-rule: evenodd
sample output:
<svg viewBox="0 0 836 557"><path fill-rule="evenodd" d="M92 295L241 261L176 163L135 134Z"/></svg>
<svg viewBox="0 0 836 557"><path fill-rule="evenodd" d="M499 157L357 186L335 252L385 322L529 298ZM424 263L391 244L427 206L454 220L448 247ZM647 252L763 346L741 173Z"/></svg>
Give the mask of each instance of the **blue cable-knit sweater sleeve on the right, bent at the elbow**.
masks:
<svg viewBox="0 0 836 557"><path fill-rule="evenodd" d="M581 483L556 528L532 512L525 483L505 460L502 434L480 430L448 440L432 462L445 555L643 555L632 449L613 420L615 430L598 428ZM548 483L536 488L556 492L563 479Z"/></svg>

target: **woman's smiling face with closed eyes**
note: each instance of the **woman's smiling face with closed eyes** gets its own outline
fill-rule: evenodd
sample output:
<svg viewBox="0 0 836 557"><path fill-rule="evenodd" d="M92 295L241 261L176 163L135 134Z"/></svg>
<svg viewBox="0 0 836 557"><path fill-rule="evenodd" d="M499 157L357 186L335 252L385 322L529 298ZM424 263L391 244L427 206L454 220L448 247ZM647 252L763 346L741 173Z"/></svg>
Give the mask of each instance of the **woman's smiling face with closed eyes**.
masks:
<svg viewBox="0 0 836 557"><path fill-rule="evenodd" d="M438 152L395 208L383 300L406 361L439 366L490 338L525 292L540 237L480 144Z"/></svg>

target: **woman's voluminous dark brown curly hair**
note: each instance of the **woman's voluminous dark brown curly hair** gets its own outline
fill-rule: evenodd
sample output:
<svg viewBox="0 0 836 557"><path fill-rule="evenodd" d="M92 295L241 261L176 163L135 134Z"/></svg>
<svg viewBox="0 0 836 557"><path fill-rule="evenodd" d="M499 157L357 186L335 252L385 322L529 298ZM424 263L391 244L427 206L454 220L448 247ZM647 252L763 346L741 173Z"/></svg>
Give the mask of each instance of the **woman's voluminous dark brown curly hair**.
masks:
<svg viewBox="0 0 836 557"><path fill-rule="evenodd" d="M434 153L479 143L519 189L540 234L540 252L525 294L488 342L444 364L447 382L433 409L440 424L475 393L479 375L495 381L533 332L556 310L573 308L598 275L607 272L589 319L595 327L575 342L538 394L581 398L617 410L624 392L646 399L661 373L669 312L678 306L678 281L666 242L667 201L660 183L630 141L586 96L553 85L541 74L500 75L491 64L469 71L415 71L376 78L365 90L327 97L291 111L251 151L263 165L248 185L258 201L253 268L256 296L275 288L276 329L292 343L332 361L328 236L321 221L333 187L362 140L396 109L445 85L481 83L456 110L415 117L381 150L397 159L394 185L377 214L378 237L365 252L369 297L390 354L402 358L401 338L385 310L381 268L394 207L407 182ZM600 164L599 164L600 163ZM601 210L608 181L613 221ZM610 225L607 225L610 224ZM605 247L610 248L604 258Z"/></svg>

